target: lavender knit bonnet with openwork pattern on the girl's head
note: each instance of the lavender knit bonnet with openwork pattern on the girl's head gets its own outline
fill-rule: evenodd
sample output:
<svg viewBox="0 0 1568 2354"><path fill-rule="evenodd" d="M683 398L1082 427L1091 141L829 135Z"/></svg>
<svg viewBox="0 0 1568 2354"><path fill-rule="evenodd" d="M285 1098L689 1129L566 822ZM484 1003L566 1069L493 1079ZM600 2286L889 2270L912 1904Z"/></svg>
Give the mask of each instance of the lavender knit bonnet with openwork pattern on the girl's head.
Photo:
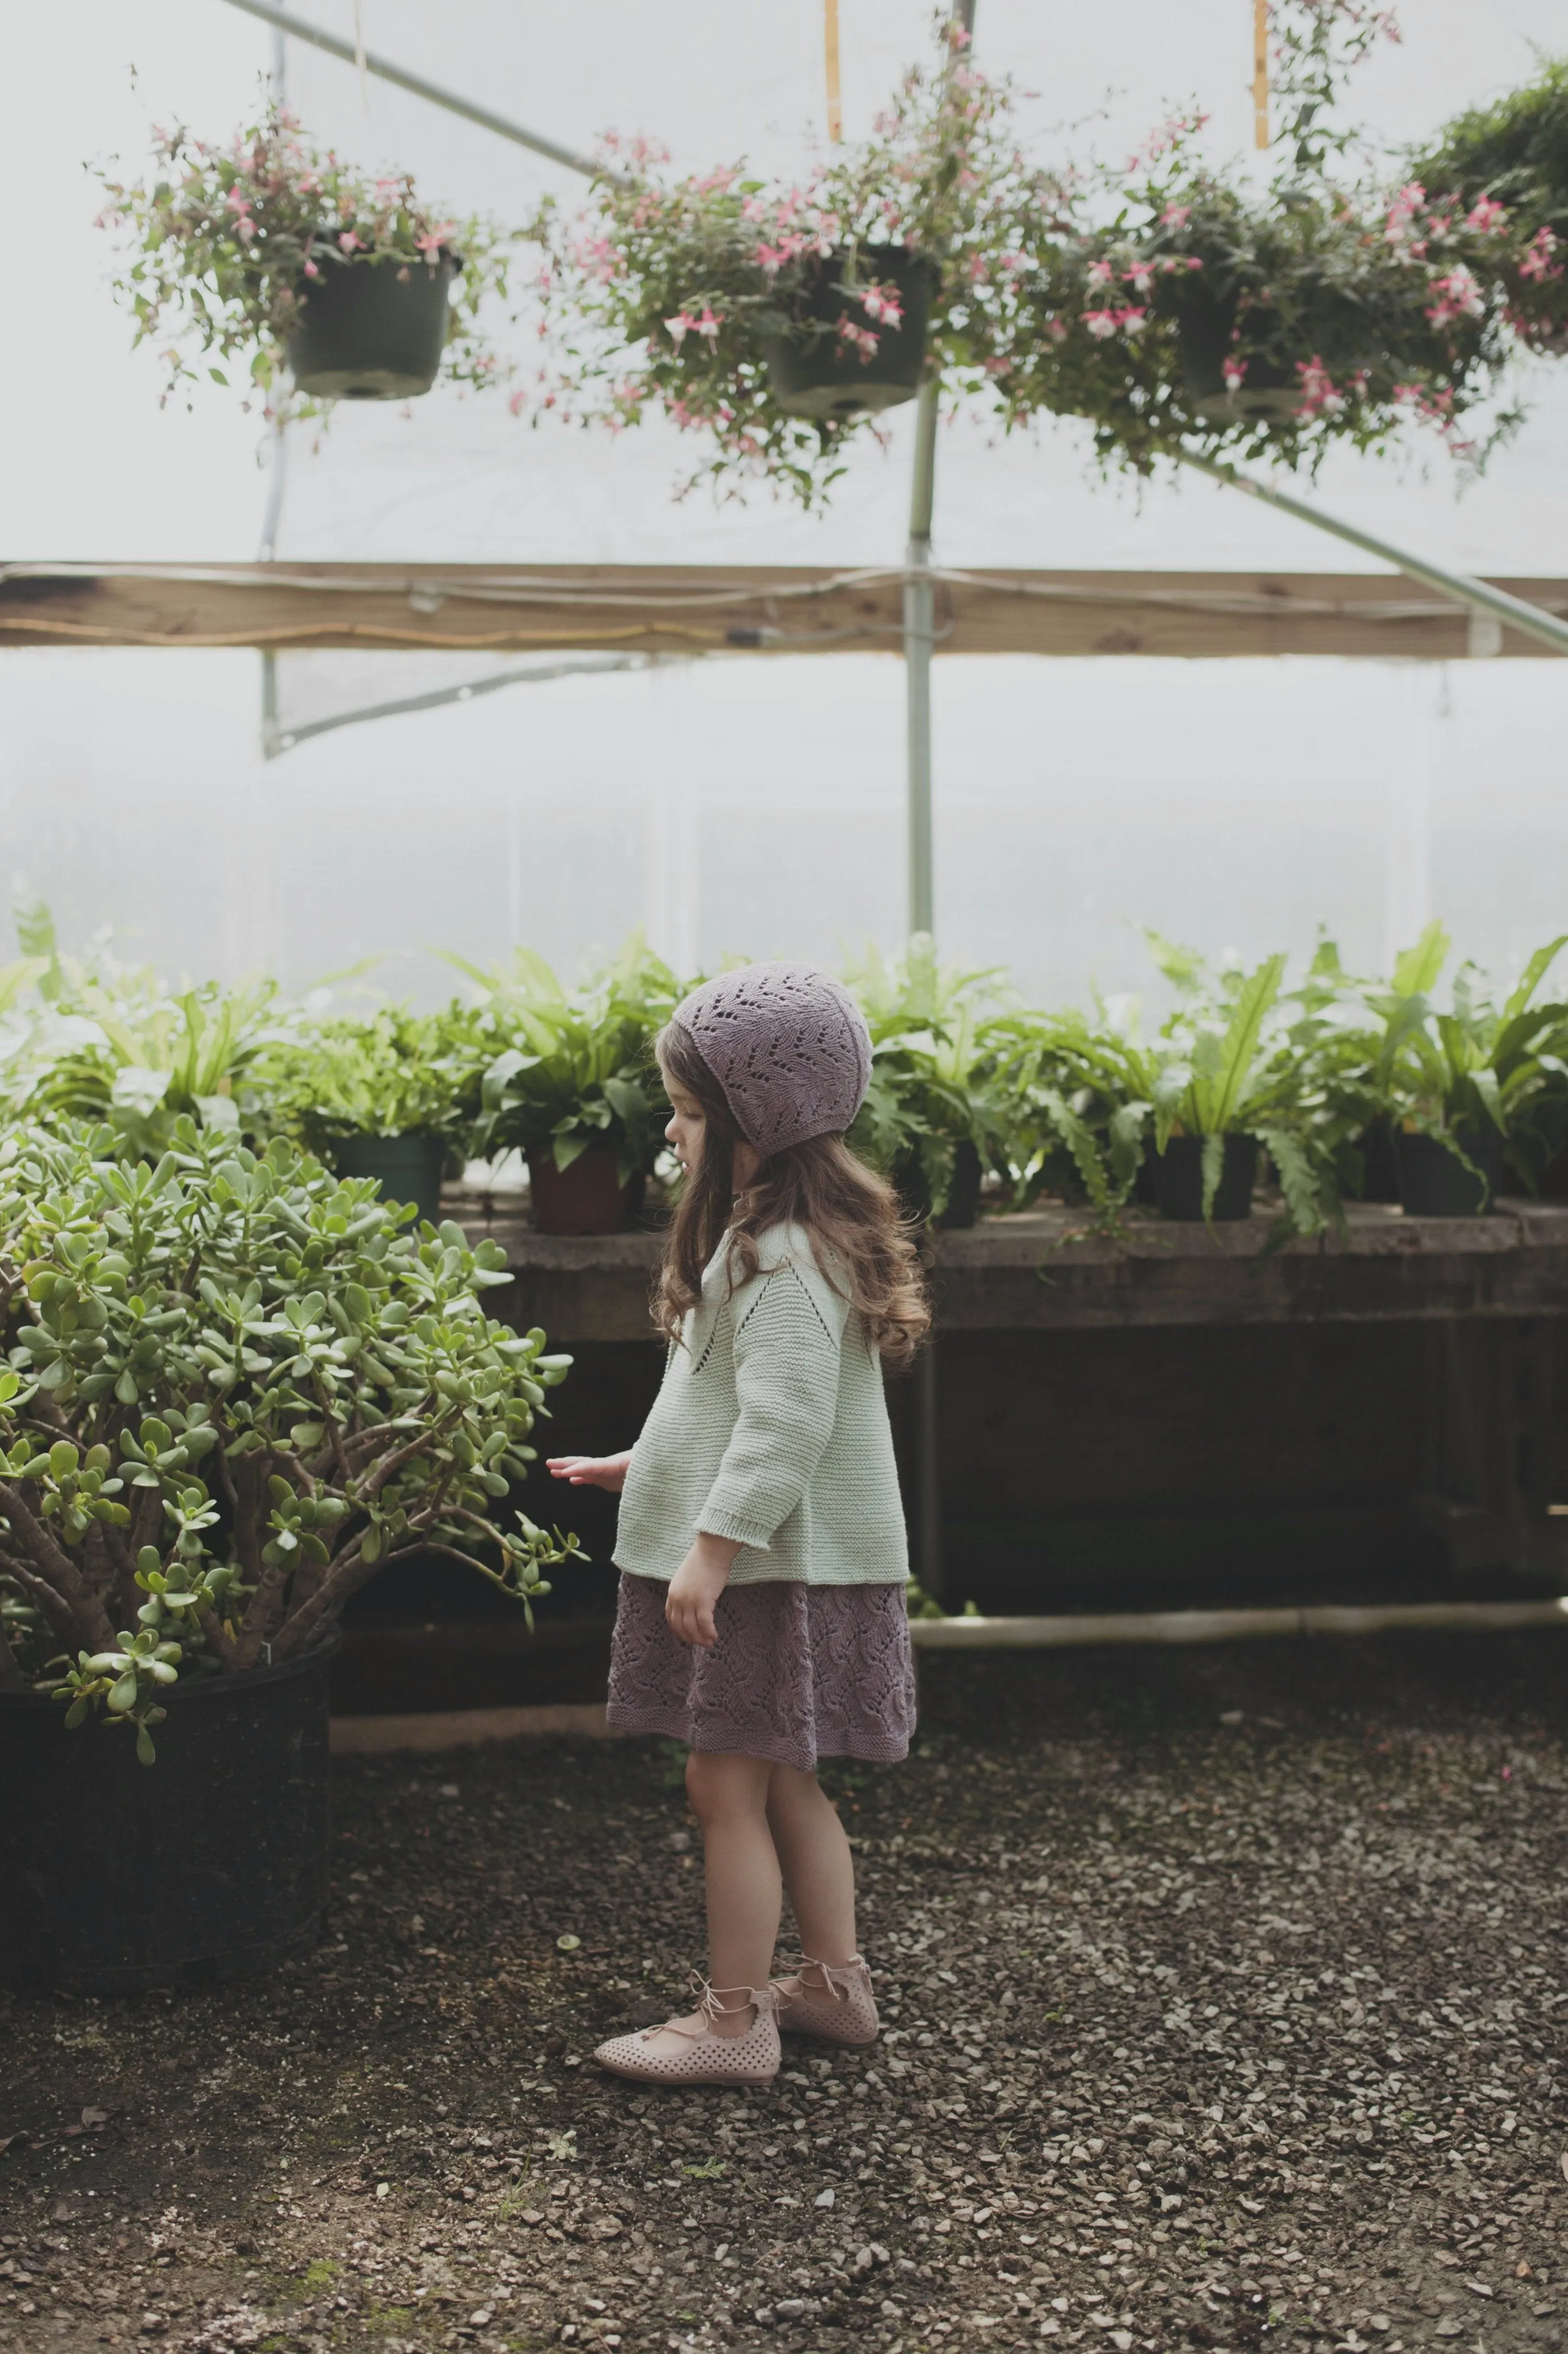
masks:
<svg viewBox="0 0 1568 2354"><path fill-rule="evenodd" d="M842 1135L865 1102L872 1038L842 982L813 965L741 965L675 1008L757 1151Z"/></svg>

